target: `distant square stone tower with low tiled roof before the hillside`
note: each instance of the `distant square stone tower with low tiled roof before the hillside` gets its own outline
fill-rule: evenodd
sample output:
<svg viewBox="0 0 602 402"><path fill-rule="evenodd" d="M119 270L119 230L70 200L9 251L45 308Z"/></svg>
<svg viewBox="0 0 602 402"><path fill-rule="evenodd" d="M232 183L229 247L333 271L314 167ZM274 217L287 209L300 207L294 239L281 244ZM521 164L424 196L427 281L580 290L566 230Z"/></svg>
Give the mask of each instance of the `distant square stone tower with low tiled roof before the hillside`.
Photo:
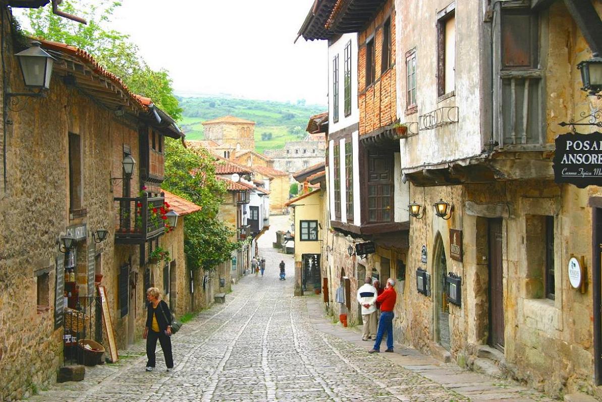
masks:
<svg viewBox="0 0 602 402"><path fill-rule="evenodd" d="M213 140L232 149L255 149L255 122L223 116L202 122L205 140Z"/></svg>

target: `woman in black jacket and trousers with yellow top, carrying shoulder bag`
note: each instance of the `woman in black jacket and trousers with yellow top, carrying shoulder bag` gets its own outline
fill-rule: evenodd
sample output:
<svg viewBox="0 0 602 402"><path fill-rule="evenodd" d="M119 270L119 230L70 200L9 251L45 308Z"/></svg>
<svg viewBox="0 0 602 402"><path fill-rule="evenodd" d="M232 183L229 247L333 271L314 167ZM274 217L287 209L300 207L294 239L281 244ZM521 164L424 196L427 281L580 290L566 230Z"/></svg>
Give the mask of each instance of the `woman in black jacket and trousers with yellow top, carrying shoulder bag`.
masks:
<svg viewBox="0 0 602 402"><path fill-rule="evenodd" d="M149 287L146 291L146 300L149 301L146 314L146 327L142 338L146 339L146 371L155 368L155 350L157 350L157 339L163 349L167 371L172 371L172 312L169 306L161 300L161 292L157 287Z"/></svg>

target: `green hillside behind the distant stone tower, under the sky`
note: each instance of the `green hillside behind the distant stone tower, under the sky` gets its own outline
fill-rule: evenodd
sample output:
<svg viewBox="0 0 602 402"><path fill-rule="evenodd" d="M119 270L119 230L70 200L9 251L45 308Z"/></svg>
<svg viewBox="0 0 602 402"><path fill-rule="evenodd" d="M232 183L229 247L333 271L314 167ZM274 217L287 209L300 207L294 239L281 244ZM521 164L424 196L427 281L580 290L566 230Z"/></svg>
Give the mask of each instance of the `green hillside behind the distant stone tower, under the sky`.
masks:
<svg viewBox="0 0 602 402"><path fill-rule="evenodd" d="M303 139L309 117L327 109L326 105L306 105L304 101L291 104L218 96L182 98L180 106L184 108L184 113L179 124L187 139L203 139L200 122L232 115L256 123L255 148L259 152L282 148L287 141Z"/></svg>

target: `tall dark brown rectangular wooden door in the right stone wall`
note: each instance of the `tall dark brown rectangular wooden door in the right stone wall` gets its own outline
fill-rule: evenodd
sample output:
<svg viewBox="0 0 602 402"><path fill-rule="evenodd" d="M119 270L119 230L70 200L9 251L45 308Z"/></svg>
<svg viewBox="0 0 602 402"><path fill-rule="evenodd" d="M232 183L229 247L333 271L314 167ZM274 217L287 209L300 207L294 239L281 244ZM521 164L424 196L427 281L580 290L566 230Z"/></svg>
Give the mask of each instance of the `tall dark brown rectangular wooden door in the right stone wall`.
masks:
<svg viewBox="0 0 602 402"><path fill-rule="evenodd" d="M489 344L504 350L504 287L501 219L489 220Z"/></svg>

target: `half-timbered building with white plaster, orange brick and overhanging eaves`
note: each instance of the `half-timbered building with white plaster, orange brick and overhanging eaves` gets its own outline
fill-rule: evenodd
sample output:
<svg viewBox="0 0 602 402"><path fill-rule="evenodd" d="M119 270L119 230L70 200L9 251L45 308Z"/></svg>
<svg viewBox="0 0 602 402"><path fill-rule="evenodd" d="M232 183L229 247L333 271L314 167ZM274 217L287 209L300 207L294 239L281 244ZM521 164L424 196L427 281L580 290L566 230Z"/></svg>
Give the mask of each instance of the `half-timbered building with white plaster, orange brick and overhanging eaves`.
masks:
<svg viewBox="0 0 602 402"><path fill-rule="evenodd" d="M338 3L337 3L338 4ZM363 10L349 19L353 9ZM399 172L393 1L318 1L299 35L329 40L329 111L322 275L330 312L361 324L355 292L365 277L400 278L405 289L409 215ZM337 34L346 32L346 34ZM373 247L362 254L364 247ZM343 286L344 303L334 295ZM403 317L396 317L397 321ZM399 326L399 325L398 325Z"/></svg>

